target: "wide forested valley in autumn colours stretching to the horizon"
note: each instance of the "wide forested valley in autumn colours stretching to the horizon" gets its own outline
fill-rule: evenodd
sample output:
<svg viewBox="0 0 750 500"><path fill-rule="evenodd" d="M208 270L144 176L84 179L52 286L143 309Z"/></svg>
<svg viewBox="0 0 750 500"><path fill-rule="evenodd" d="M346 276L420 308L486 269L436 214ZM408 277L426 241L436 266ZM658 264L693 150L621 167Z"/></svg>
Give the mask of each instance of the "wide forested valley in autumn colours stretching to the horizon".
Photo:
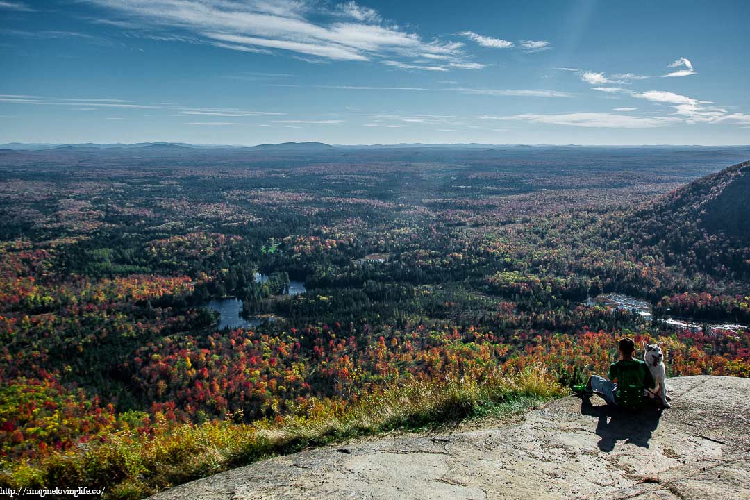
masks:
<svg viewBox="0 0 750 500"><path fill-rule="evenodd" d="M750 247L727 208L747 157L0 151L0 481L62 468L142 498L337 436L565 394L624 336L661 342L670 376L750 376ZM451 394L466 403L441 409ZM401 416L368 424L376 401ZM191 448L206 440L215 456ZM200 458L160 469L149 447Z"/></svg>

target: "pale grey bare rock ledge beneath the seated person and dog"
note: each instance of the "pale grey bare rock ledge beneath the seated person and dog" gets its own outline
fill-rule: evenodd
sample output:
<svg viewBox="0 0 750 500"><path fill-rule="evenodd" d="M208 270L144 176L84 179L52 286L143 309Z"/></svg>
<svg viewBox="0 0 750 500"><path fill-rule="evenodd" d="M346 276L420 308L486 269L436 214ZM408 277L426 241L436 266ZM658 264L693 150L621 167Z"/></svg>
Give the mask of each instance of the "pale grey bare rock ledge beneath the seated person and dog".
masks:
<svg viewBox="0 0 750 500"><path fill-rule="evenodd" d="M669 379L672 409L565 397L520 424L302 451L154 500L750 499L750 379Z"/></svg>

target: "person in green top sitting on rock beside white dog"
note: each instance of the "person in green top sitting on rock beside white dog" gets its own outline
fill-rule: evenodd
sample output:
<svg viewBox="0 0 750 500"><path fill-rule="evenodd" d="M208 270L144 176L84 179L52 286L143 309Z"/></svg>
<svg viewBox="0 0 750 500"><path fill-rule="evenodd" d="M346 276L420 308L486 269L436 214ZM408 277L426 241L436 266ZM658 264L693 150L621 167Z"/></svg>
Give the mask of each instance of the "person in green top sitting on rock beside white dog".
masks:
<svg viewBox="0 0 750 500"><path fill-rule="evenodd" d="M592 375L586 385L575 385L578 394L599 394L609 405L638 409L643 405L643 389L655 388L653 376L646 364L633 359L635 343L631 338L619 341L622 359L610 365L609 380Z"/></svg>

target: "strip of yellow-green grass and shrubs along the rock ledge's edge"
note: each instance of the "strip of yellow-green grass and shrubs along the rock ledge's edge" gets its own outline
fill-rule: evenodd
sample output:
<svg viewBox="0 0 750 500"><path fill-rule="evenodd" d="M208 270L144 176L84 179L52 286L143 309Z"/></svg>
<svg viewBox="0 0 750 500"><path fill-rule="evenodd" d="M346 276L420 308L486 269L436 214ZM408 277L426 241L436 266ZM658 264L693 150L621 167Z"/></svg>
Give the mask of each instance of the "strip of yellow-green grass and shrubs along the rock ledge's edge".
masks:
<svg viewBox="0 0 750 500"><path fill-rule="evenodd" d="M394 430L424 430L466 418L499 417L568 394L545 367L443 382L406 382L347 406L314 403L301 415L235 424L169 424L52 454L7 463L3 487L107 487L109 499L142 499L168 487L311 446Z"/></svg>

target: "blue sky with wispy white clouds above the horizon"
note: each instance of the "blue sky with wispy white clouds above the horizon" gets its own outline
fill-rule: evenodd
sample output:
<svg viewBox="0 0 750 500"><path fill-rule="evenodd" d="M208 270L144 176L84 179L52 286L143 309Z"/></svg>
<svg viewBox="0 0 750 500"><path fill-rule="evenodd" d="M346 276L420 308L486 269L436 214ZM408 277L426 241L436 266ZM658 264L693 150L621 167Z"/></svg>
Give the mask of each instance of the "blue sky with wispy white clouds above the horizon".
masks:
<svg viewBox="0 0 750 500"><path fill-rule="evenodd" d="M0 0L0 142L750 144L750 1Z"/></svg>

